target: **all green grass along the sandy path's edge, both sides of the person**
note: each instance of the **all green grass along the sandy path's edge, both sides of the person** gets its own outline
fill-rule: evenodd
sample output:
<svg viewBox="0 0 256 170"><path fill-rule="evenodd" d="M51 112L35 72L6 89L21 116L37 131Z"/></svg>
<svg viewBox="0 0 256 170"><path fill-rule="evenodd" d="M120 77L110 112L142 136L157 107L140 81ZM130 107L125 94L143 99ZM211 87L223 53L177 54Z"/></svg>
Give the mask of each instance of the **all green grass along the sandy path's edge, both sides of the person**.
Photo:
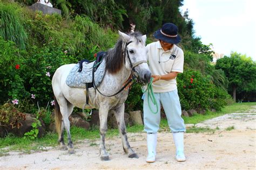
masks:
<svg viewBox="0 0 256 170"><path fill-rule="evenodd" d="M210 112L207 111L205 115L196 114L192 117L183 117L186 124L197 124L199 122L205 121L206 119L222 116L225 114L230 114L232 112L246 112L252 109L256 103L234 103L232 105L228 105L223 108L221 111L218 112ZM193 126L190 129L187 129L187 133L214 133L216 129L209 129L209 128L198 128ZM234 126L230 126L226 128L227 131L233 130ZM134 126L127 126L128 133L136 133L142 132L143 125L134 125ZM160 131L170 131L169 125L166 119L162 119L160 123ZM118 136L119 131L118 129L109 129L107 130L106 137L112 138ZM95 143L95 139L99 139L99 129L97 127L92 128L90 130L85 130L82 128L71 127L71 135L74 145L79 142L79 140L84 139L91 139L90 146L97 145ZM66 134L65 134L66 137ZM31 151L38 151L38 150L48 150L48 147L56 147L58 146L58 135L56 133L46 133L43 138L37 138L35 140L31 139L24 139L12 136L9 134L8 137L0 138L0 157L4 155L8 155L8 151L23 151L26 153L30 153ZM65 141L67 139L65 138Z"/></svg>

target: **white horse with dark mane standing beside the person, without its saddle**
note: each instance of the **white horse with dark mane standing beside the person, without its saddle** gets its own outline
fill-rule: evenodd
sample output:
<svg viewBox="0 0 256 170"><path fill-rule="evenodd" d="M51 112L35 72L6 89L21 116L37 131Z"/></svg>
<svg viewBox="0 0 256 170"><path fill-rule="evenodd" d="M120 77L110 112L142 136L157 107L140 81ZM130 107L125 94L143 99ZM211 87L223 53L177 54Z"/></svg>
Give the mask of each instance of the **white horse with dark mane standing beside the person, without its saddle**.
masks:
<svg viewBox="0 0 256 170"><path fill-rule="evenodd" d="M105 76L100 85L90 88L89 105L87 108L99 109L100 121L100 159L109 160L109 154L105 148L105 135L107 130L107 114L109 110L114 111L119 133L122 137L124 152L129 158L138 158L138 155L130 147L126 136L126 126L124 122L124 102L128 96L127 90L122 89L130 78L135 76L142 83L149 83L151 73L146 62L146 35L138 32L125 34L119 31L119 40L116 46L110 49L104 56L106 62ZM52 88L56 98L55 119L56 130L59 133L59 143L61 150L68 150L68 153L75 153L70 135L70 122L68 117L74 107L83 108L86 103L86 89L72 88L66 85L66 78L75 64L60 66L52 77ZM112 96L113 94L116 94ZM93 97L94 96L94 97ZM111 96L111 97L109 97ZM64 144L64 128L68 134L68 147Z"/></svg>

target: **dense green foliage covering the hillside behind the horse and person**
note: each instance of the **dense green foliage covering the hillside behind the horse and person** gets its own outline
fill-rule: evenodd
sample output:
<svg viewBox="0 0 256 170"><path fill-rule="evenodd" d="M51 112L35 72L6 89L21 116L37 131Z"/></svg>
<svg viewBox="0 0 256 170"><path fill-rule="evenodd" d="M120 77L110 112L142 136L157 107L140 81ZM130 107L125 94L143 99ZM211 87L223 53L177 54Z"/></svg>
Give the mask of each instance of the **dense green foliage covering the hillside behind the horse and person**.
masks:
<svg viewBox="0 0 256 170"><path fill-rule="evenodd" d="M23 0L18 2L26 5L34 3ZM3 46L0 49L0 63L5 70L0 72L0 92L3 94L0 97L1 103L8 98L17 98L23 111L35 114L37 102L45 106L52 100L51 78L59 66L76 63L84 58L92 60L92 54L106 51L116 43L118 34L113 30L127 31L130 23L136 24L136 30L148 34L147 43L152 42L152 32L166 22L176 24L183 38L181 47L185 52L184 73L177 78L183 109L218 110L226 103L228 81L224 71L211 65L211 45L204 45L200 38L194 37L193 20L188 17L188 12L181 16L179 7L182 0L51 2L56 8L62 9L64 17L28 11L17 3L0 3L5 5L4 8L21 11L15 17L28 35L24 39L25 51L17 48L17 41L0 38L0 45ZM8 25L8 22L4 22ZM192 75L195 77L191 84ZM32 94L35 99L31 99ZM125 103L126 111L142 109L141 96L140 85L133 84ZM46 109L42 113L44 121L48 123L51 121L50 110Z"/></svg>

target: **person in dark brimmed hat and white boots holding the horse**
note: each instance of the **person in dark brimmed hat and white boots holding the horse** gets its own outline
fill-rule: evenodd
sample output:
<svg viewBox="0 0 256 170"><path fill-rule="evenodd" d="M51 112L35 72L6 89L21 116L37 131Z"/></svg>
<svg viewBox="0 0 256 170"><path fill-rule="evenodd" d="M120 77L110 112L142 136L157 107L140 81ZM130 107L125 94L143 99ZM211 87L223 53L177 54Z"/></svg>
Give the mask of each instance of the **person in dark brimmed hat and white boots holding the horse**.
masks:
<svg viewBox="0 0 256 170"><path fill-rule="evenodd" d="M185 161L184 155L184 132L185 124L181 118L181 107L179 102L176 77L183 73L184 53L178 44L181 40L178 35L178 27L172 23L164 24L161 29L154 33L157 42L146 46L147 61L152 73L152 89L158 112L152 104L147 93L143 95L144 130L147 132L146 162L156 161L157 132L160 124L160 103L163 105L169 127L173 134L176 146L176 160ZM150 100L150 101L147 101Z"/></svg>

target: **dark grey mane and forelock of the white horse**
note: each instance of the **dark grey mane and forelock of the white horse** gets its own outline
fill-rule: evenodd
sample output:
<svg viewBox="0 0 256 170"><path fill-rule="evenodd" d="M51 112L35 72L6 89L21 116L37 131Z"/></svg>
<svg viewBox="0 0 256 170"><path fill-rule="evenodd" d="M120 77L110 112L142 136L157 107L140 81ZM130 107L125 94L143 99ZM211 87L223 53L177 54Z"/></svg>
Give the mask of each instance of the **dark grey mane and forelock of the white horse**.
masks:
<svg viewBox="0 0 256 170"><path fill-rule="evenodd" d="M142 41L142 34L139 32L131 33L129 34L129 36L136 38L137 42ZM117 73L122 68L125 60L122 39L119 39L117 41L114 48L109 49L109 51L107 51L105 58L106 70L109 71L109 73Z"/></svg>

